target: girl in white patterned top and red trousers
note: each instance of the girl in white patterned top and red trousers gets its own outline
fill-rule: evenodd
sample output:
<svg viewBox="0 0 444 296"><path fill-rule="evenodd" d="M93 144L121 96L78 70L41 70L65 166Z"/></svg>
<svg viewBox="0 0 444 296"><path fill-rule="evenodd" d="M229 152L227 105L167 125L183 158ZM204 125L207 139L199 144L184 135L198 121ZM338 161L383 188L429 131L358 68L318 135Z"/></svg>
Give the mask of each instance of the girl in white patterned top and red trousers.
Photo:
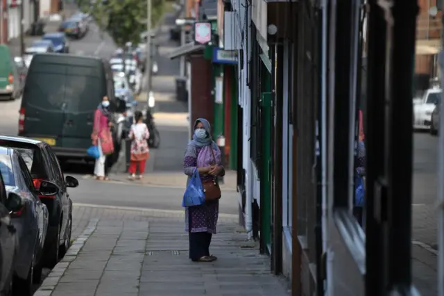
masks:
<svg viewBox="0 0 444 296"><path fill-rule="evenodd" d="M150 156L147 140L150 138L148 127L143 122L142 112L135 112L136 123L131 126L129 137L131 142L131 159L128 172L130 179L136 178L137 168L139 168L139 176L137 179L142 179L142 174L145 172L146 160Z"/></svg>

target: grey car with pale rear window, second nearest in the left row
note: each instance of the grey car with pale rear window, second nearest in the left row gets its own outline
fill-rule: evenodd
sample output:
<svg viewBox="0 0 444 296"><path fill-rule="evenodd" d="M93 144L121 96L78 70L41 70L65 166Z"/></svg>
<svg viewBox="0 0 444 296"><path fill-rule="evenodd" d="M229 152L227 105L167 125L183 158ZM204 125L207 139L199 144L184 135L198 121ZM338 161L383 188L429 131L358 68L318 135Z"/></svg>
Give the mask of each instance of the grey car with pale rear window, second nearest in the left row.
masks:
<svg viewBox="0 0 444 296"><path fill-rule="evenodd" d="M0 147L0 173L8 195L20 199L19 209L10 213L19 238L12 290L17 296L31 296L33 283L40 283L42 277L41 259L48 227L48 208L39 195L56 195L58 188L44 180L37 191L22 156L8 147Z"/></svg>

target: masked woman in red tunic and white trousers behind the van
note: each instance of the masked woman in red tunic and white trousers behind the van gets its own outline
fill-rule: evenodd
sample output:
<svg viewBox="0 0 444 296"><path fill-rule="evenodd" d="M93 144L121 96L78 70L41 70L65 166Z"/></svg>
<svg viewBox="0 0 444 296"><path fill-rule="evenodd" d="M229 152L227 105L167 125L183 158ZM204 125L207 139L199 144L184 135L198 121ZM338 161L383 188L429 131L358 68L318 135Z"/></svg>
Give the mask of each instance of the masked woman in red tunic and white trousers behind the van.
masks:
<svg viewBox="0 0 444 296"><path fill-rule="evenodd" d="M105 176L105 162L106 157L114 152L114 144L112 142L112 135L110 126L112 123L109 120L110 117L110 101L108 97L103 97L101 104L94 113L94 127L92 130L92 145L99 147L99 158L96 159L96 165L94 166L94 176L97 180L107 180Z"/></svg>

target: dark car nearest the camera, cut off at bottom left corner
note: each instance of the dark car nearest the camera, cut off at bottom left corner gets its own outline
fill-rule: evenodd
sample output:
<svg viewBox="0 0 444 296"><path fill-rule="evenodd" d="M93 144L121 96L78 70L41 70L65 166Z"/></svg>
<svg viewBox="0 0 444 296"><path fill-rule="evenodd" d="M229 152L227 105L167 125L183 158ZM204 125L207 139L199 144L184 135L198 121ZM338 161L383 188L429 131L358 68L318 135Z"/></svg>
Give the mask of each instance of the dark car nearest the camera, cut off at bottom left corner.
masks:
<svg viewBox="0 0 444 296"><path fill-rule="evenodd" d="M0 295L12 293L12 278L15 260L19 252L17 229L12 224L9 212L19 211L22 198L14 193L6 194L5 183L0 174Z"/></svg>

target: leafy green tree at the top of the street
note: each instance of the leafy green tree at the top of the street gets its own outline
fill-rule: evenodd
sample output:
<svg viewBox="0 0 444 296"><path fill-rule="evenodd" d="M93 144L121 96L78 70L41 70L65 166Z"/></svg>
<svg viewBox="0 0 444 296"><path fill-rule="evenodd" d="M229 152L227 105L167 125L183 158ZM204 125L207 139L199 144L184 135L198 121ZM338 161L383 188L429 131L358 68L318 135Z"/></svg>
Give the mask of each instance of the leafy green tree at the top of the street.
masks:
<svg viewBox="0 0 444 296"><path fill-rule="evenodd" d="M110 33L117 46L130 41L140 42L140 34L146 31L147 0L95 1L89 13L101 29ZM164 0L151 0L152 24L155 26L164 13Z"/></svg>

